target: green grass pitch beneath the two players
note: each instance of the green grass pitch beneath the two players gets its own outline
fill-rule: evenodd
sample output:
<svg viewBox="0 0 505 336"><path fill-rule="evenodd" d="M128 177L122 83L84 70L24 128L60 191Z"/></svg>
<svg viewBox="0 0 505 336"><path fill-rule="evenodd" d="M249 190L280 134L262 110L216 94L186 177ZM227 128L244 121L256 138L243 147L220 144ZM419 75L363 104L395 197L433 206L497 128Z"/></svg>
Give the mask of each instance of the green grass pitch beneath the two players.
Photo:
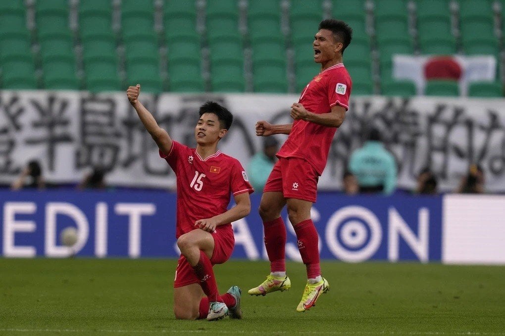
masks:
<svg viewBox="0 0 505 336"><path fill-rule="evenodd" d="M173 259L1 259L0 335L505 335L505 267L325 261L330 291L295 307L305 266L289 262L289 292L250 297L265 261L215 267L238 285L242 320L180 321Z"/></svg>

